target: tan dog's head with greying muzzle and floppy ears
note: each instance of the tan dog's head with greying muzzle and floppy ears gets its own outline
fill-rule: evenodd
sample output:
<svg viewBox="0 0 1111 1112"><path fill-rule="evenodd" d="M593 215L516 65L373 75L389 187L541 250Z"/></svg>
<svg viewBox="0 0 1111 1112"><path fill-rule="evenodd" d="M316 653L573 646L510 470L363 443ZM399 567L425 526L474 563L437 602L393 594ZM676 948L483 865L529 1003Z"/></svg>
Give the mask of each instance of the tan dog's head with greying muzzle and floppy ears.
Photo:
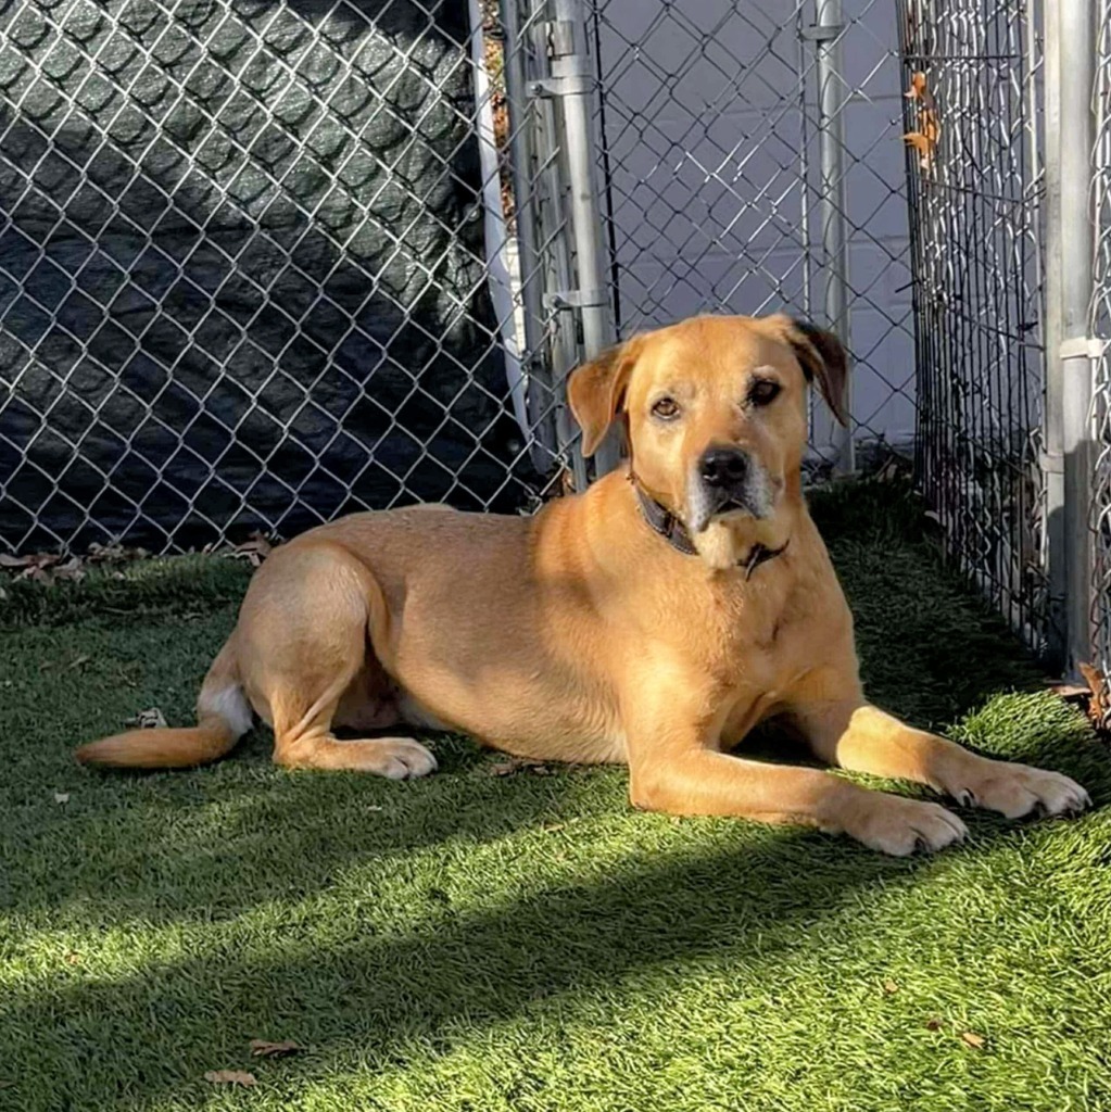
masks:
<svg viewBox="0 0 1111 1112"><path fill-rule="evenodd" d="M844 424L845 353L786 316L694 317L579 367L568 396L592 455L625 424L636 481L714 566L790 533L806 448L806 386Z"/></svg>

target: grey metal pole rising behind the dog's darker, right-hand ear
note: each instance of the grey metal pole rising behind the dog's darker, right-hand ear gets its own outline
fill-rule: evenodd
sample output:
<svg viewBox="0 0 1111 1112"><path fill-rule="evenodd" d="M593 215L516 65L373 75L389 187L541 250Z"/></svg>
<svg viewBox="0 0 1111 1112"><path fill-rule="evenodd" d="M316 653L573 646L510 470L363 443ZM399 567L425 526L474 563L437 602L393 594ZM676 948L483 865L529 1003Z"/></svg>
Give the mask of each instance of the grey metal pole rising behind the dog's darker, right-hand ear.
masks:
<svg viewBox="0 0 1111 1112"><path fill-rule="evenodd" d="M814 4L815 73L817 76L817 128L822 169L820 197L822 250L825 258L825 320L846 350L852 349L849 316L849 235L845 225L845 113L847 100L842 77L841 34L844 30L841 0L816 0ZM845 385L845 409L852 414L852 377ZM827 415L825 428L835 459L833 469L845 475L855 469L853 429L842 428ZM820 441L821 443L821 441Z"/></svg>

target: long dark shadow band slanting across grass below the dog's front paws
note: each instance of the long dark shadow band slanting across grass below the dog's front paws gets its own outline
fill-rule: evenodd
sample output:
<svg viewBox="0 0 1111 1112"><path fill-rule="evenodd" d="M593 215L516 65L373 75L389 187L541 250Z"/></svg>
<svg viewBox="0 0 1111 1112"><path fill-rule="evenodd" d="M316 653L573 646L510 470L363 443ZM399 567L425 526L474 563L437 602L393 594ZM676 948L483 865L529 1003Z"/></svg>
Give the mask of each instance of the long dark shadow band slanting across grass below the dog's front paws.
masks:
<svg viewBox="0 0 1111 1112"><path fill-rule="evenodd" d="M774 957L785 934L836 913L859 890L911 883L949 860L899 863L846 843L835 856L820 853L825 867L815 868L815 846L792 832L742 846L726 834L692 860L642 860L489 912L457 915L444 903L400 937L348 927L321 940L290 924L265 950L245 932L239 947L225 936L209 952L110 981L14 992L0 1005L6 1056L9 1070L27 1072L3 1095L24 1112L199 1099L206 1070L241 1062L249 1037L271 1034L315 1046L284 1064L294 1080L351 1055L396 1066L415 1044L447 1053L546 997L619 989L639 971L712 953Z"/></svg>

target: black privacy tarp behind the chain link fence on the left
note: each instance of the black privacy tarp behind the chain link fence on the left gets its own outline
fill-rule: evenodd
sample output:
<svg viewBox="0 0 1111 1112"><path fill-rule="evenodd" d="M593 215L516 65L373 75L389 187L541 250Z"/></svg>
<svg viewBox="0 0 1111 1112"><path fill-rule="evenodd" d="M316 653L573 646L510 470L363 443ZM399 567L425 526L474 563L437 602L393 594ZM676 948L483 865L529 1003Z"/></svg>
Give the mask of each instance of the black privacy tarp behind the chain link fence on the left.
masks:
<svg viewBox="0 0 1111 1112"><path fill-rule="evenodd" d="M523 502L463 0L21 0L0 32L0 546Z"/></svg>

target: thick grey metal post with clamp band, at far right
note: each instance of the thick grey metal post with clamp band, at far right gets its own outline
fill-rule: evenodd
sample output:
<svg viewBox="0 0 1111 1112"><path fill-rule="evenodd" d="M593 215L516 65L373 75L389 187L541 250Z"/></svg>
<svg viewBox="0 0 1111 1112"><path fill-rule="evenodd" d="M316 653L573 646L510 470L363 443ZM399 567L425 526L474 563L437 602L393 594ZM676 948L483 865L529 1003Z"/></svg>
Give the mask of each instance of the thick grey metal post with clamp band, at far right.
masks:
<svg viewBox="0 0 1111 1112"><path fill-rule="evenodd" d="M1055 0L1060 67L1061 417L1064 449L1064 533L1068 671L1091 659L1092 357L1088 337L1094 239L1091 166L1095 141L1093 0ZM1054 3L1046 4L1046 22ZM1065 53L1067 51L1067 53Z"/></svg>

